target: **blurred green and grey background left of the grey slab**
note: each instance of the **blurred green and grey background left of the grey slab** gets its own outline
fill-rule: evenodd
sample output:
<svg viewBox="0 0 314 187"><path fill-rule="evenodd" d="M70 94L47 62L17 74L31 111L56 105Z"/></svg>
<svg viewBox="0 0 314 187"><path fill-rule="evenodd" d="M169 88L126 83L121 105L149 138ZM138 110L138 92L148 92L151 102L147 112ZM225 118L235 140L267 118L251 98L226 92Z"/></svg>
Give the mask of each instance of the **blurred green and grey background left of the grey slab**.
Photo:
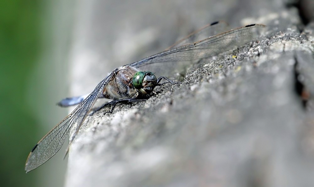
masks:
<svg viewBox="0 0 314 187"><path fill-rule="evenodd" d="M63 186L63 154L27 174L24 164L37 141L67 113L56 103L68 90L70 3L0 3L0 186Z"/></svg>

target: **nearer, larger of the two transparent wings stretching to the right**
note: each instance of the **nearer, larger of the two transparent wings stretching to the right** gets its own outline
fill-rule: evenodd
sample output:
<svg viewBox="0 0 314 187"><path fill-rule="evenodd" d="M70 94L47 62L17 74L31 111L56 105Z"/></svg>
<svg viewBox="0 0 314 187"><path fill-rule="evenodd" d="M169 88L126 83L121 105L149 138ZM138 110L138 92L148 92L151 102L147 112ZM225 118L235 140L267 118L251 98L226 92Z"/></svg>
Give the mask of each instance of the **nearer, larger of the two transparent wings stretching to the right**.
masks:
<svg viewBox="0 0 314 187"><path fill-rule="evenodd" d="M195 43L171 48L161 53L130 64L142 70L148 70L156 76L172 77L174 71L180 72L191 61L217 55L239 47L252 40L253 28L266 27L263 24L251 24L220 33ZM180 62L180 63L171 63Z"/></svg>

